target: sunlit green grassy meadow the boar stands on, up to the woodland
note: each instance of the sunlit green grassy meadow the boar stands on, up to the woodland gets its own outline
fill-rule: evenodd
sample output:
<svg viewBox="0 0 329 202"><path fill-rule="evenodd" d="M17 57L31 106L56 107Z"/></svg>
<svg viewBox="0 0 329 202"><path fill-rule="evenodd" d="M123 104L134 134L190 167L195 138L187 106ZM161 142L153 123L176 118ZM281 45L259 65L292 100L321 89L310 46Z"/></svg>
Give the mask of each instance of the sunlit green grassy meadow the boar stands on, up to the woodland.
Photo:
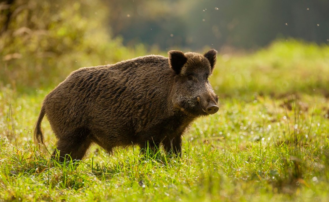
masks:
<svg viewBox="0 0 329 202"><path fill-rule="evenodd" d="M138 147L109 156L94 145L68 164L50 161L32 138L54 86L3 86L0 201L329 201L328 75L327 45L289 40L219 54L211 83L220 109L193 123L181 159ZM42 128L51 152L46 119Z"/></svg>

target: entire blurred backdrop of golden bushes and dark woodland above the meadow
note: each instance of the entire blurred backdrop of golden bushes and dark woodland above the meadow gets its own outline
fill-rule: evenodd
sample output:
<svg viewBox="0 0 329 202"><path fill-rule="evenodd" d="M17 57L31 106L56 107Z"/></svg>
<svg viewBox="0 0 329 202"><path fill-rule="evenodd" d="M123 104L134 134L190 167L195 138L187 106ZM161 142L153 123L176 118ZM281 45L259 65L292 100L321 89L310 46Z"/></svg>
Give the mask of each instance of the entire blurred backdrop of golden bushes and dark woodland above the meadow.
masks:
<svg viewBox="0 0 329 202"><path fill-rule="evenodd" d="M328 11L326 0L1 1L0 85L53 87L82 66L170 49L239 52L277 38L328 44Z"/></svg>

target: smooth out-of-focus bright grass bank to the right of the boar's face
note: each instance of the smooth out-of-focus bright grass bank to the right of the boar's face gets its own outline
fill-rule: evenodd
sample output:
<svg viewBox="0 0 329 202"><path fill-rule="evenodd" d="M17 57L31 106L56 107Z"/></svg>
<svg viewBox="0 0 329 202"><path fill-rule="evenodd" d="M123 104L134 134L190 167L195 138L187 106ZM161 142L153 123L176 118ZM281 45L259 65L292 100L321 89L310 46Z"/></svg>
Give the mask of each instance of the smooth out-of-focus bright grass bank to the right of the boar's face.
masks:
<svg viewBox="0 0 329 202"><path fill-rule="evenodd" d="M252 55L219 55L212 85L222 96L329 96L329 46L289 39Z"/></svg>

